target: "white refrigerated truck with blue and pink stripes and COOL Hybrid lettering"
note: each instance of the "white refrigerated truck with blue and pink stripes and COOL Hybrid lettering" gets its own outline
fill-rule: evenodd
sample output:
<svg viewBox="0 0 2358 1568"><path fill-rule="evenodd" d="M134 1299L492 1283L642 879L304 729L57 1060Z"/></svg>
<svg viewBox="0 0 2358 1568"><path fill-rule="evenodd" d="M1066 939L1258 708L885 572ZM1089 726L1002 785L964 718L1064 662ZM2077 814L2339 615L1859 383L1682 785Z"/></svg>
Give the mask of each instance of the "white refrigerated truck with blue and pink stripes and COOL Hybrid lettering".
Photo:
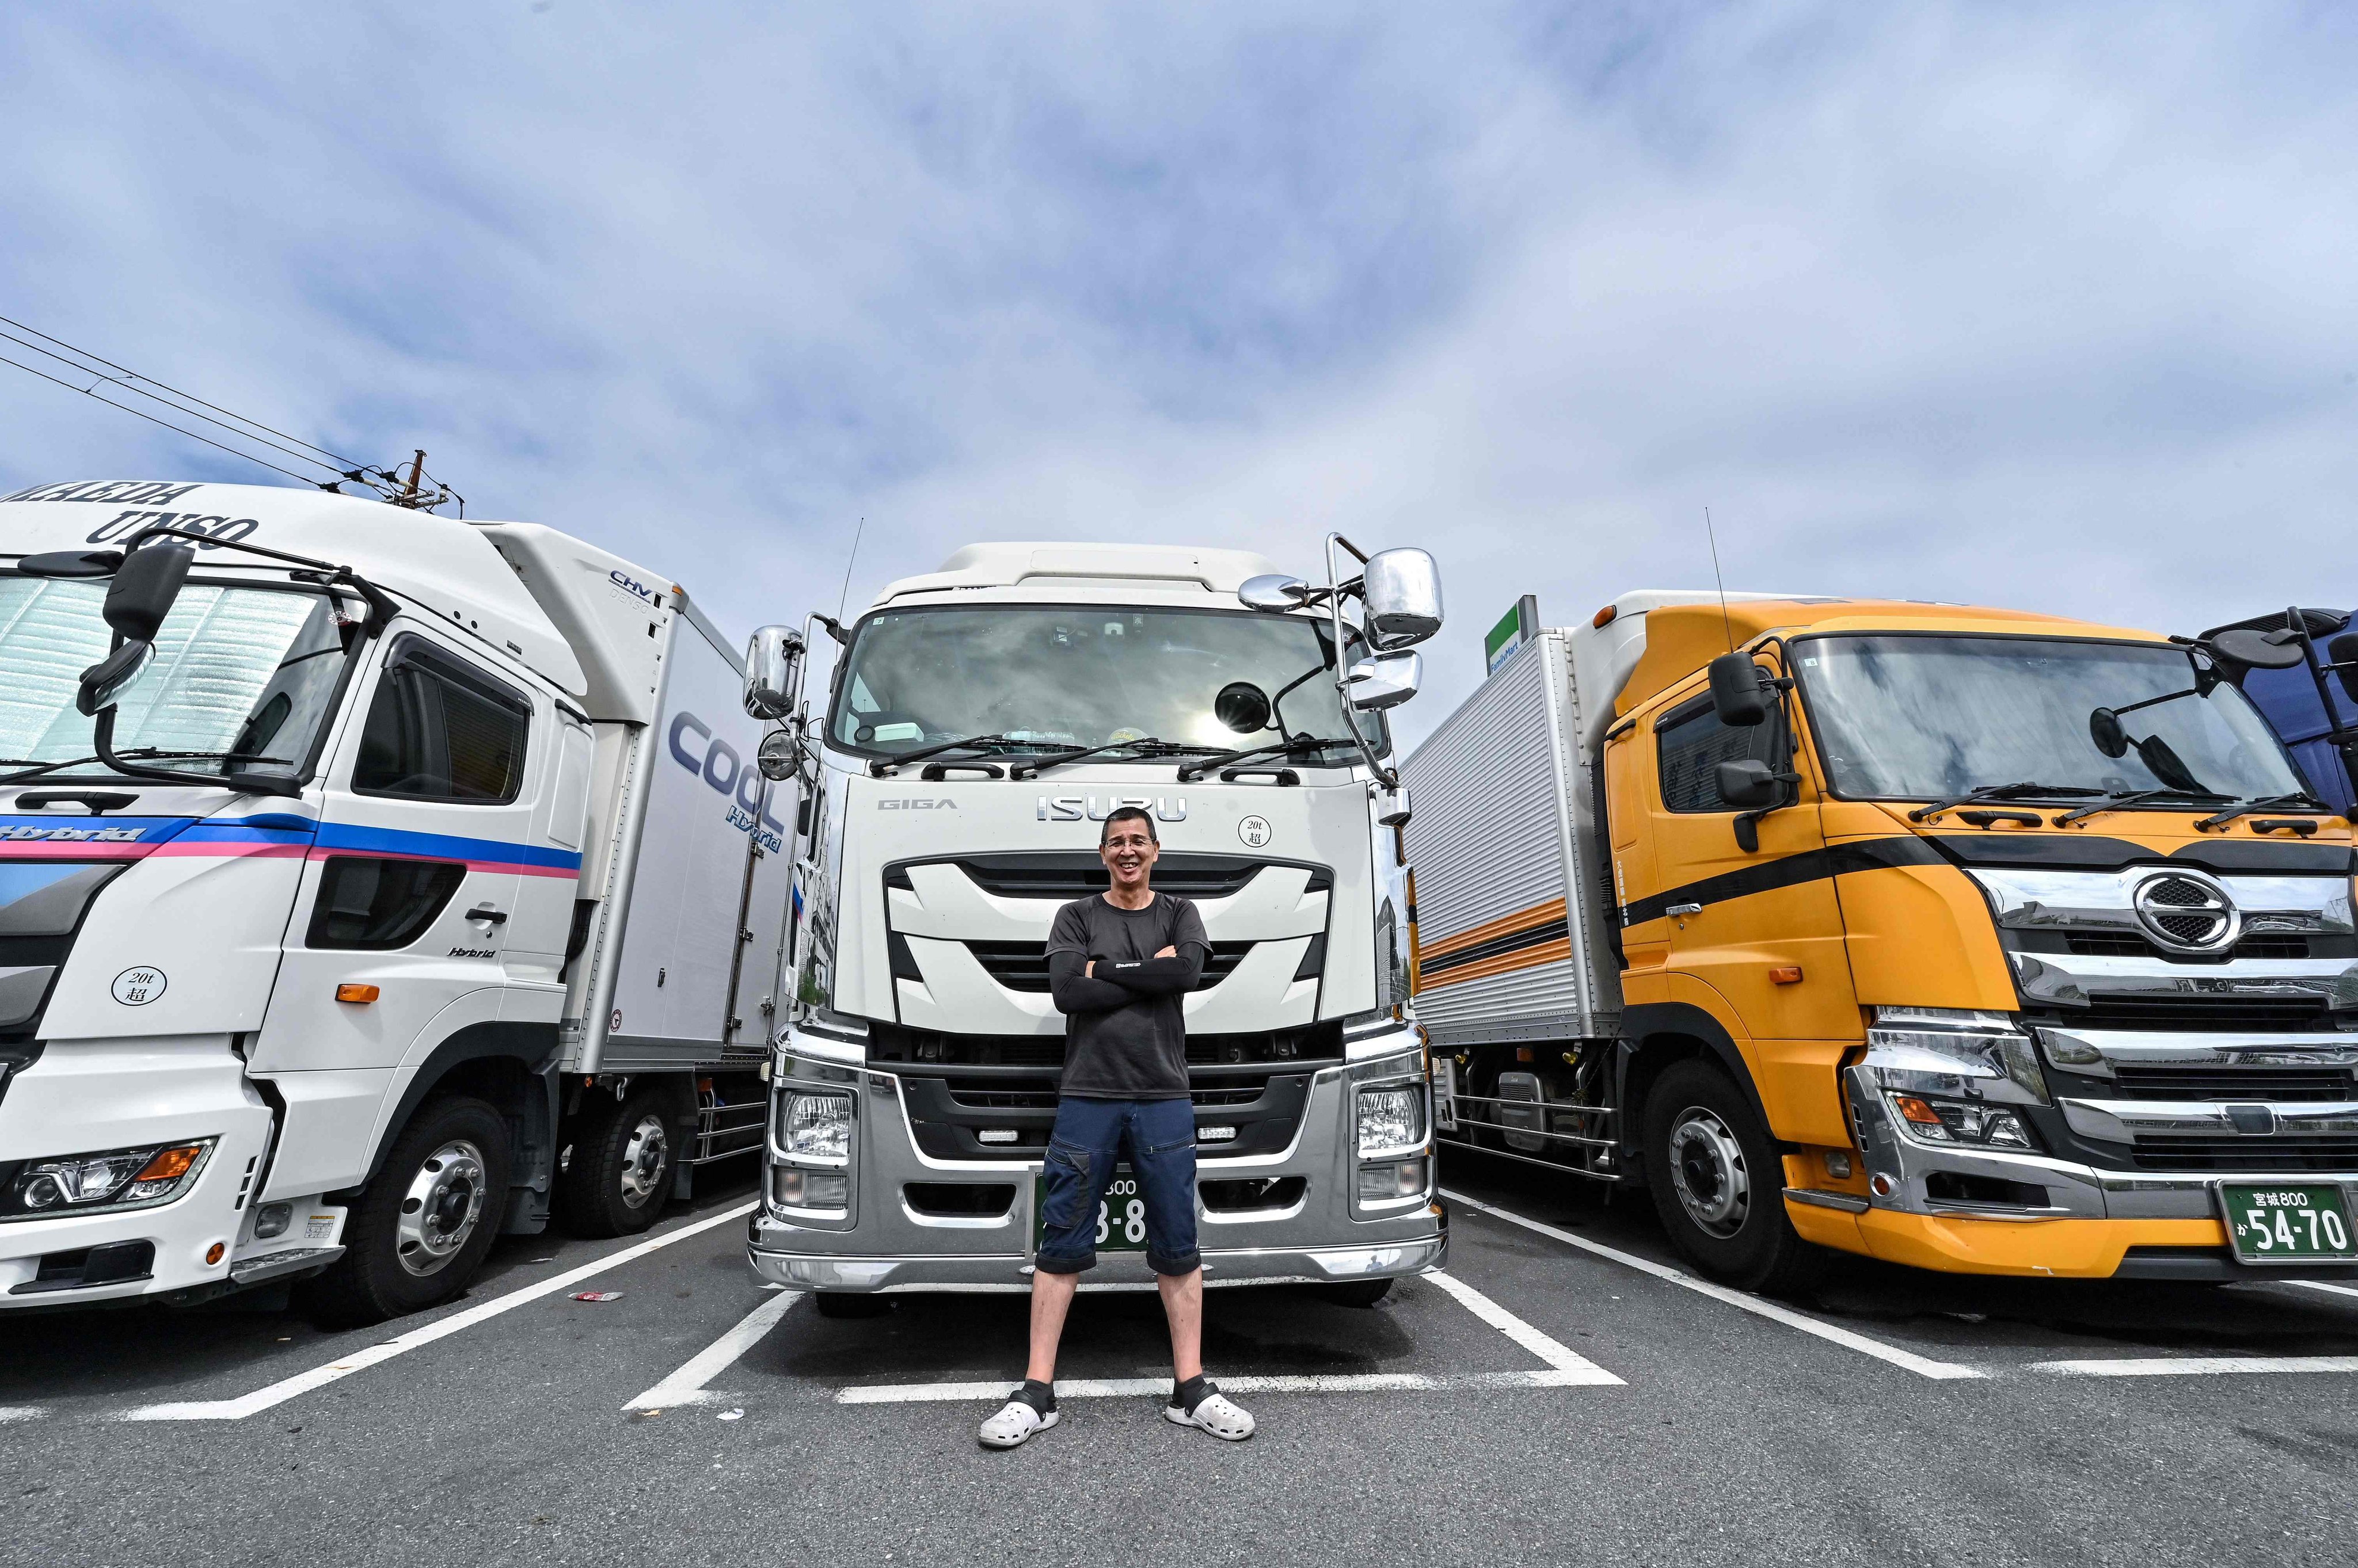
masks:
<svg viewBox="0 0 2358 1568"><path fill-rule="evenodd" d="M368 1323L757 1148L792 806L738 681L533 523L0 500L0 1306Z"/></svg>

